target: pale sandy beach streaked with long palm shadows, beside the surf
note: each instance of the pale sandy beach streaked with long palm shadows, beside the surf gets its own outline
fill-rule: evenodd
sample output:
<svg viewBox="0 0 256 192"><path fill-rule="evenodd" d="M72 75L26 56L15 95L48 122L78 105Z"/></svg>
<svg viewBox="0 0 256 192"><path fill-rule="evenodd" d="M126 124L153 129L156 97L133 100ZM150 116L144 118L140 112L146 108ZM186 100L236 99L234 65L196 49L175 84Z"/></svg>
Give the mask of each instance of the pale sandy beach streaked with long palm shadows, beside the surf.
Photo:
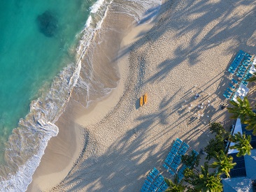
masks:
<svg viewBox="0 0 256 192"><path fill-rule="evenodd" d="M253 0L166 0L149 24L123 27L111 60L118 87L89 109L71 97L28 191L139 191L154 167L170 177L162 164L173 140L199 152L213 138L209 122L232 124L220 108L228 103L227 68L239 50L256 53L255 7Z"/></svg>

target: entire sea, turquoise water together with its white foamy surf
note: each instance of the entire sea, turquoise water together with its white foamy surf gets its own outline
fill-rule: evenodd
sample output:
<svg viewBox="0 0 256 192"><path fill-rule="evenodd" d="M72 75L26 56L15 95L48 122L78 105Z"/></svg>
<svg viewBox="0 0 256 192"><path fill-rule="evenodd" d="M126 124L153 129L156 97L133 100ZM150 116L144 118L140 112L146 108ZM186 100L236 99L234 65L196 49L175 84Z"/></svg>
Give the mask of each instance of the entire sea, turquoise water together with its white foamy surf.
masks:
<svg viewBox="0 0 256 192"><path fill-rule="evenodd" d="M108 92L95 87L110 89L101 86L90 59L83 58L108 7L144 22L160 4L160 0L0 1L0 191L27 190L48 141L58 133L55 122L73 87L85 92L85 98L89 91Z"/></svg>

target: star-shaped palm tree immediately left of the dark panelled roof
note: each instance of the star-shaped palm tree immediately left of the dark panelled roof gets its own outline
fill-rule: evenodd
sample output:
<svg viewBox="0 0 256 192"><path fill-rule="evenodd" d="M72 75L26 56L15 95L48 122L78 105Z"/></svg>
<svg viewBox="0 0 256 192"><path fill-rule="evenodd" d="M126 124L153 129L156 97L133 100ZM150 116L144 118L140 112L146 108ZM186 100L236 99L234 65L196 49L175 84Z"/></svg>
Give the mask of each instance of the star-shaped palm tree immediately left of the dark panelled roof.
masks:
<svg viewBox="0 0 256 192"><path fill-rule="evenodd" d="M210 168L217 168L217 175L225 173L225 175L230 178L229 172L234 168L234 165L236 165L236 163L233 163L233 157L227 156L227 154L221 150L219 154L215 152L213 158L215 158L216 161L210 165Z"/></svg>

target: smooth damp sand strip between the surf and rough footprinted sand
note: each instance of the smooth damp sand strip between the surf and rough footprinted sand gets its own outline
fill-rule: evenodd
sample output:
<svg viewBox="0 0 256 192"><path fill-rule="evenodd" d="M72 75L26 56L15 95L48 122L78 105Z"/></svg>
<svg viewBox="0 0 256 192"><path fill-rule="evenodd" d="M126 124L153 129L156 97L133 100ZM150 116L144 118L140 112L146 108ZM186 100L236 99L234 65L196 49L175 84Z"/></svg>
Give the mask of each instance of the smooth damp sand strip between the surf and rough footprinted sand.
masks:
<svg viewBox="0 0 256 192"><path fill-rule="evenodd" d="M130 29L128 29L127 34L125 34L120 43L120 50L125 50L125 47L129 46L137 39L135 36L139 33L145 33L145 31L152 27L152 22L136 25L137 24L132 24L131 27L129 27ZM118 57L119 56L120 52L118 53ZM122 55L122 57L127 56ZM33 175L33 180L31 184L29 184L27 191L48 191L59 184L73 168L80 156L83 146L86 145L85 139L83 138L86 135L85 127L99 122L108 115L120 101L120 97L125 89L125 81L127 80L126 71L129 71L129 67L123 65L120 60L122 59L116 61L118 63L120 80L118 81L118 86L112 89L110 94L101 98L99 101L94 101L89 108L78 106L74 101L67 103L66 110L56 122L56 125L59 127L59 134L51 138L48 142L45 154ZM74 111L74 108L79 109ZM73 115L69 115L70 113L73 113ZM69 121L72 125L66 125ZM72 128L74 128L74 131ZM76 142L71 142L71 145L65 146L64 142L67 138L68 140L76 140ZM66 154L66 152L68 153ZM52 156L55 156L55 158L52 158ZM64 159L64 165L58 165L63 164L60 163L60 161L63 161L63 158L66 158ZM57 165L57 169L52 169L52 165Z"/></svg>

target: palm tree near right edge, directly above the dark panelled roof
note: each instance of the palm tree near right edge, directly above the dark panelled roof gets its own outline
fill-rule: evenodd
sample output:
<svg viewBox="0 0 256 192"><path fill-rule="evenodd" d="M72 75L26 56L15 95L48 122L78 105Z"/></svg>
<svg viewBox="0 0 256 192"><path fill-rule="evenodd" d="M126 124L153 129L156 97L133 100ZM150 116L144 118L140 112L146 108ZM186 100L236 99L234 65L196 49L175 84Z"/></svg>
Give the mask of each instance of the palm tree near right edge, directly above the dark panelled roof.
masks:
<svg viewBox="0 0 256 192"><path fill-rule="evenodd" d="M250 155L250 149L253 149L253 147L250 145L250 140L252 140L252 137L250 135L247 135L243 133L243 135L238 132L234 135L231 135L229 140L231 142L235 142L235 145L232 147L229 147L230 149L236 149L239 151L236 156L245 156L246 154Z"/></svg>

